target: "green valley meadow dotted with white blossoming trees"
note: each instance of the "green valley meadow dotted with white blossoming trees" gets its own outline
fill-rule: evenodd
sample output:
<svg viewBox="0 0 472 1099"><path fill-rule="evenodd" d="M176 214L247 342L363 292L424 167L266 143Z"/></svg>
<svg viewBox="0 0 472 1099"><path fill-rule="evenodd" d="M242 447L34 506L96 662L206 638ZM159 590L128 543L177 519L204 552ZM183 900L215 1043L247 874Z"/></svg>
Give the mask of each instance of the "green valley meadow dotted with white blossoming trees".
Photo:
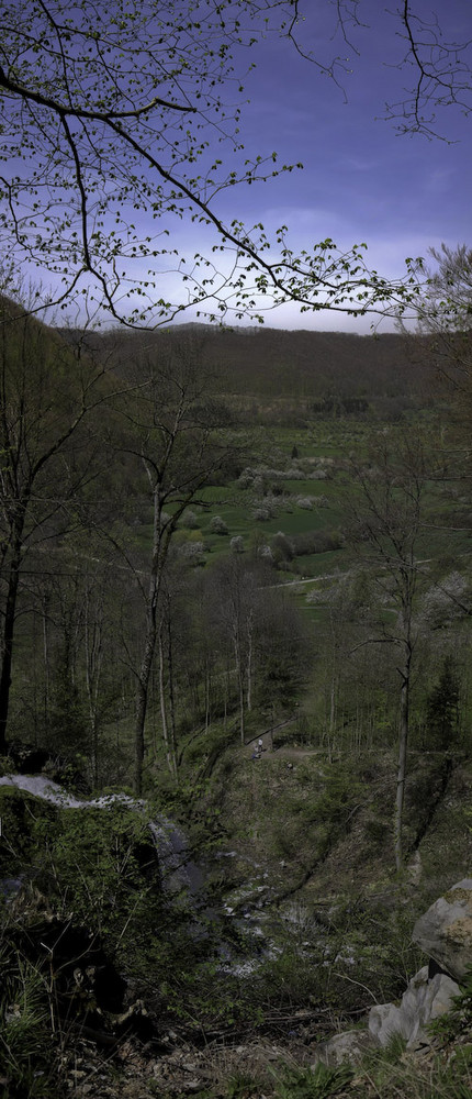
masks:
<svg viewBox="0 0 472 1099"><path fill-rule="evenodd" d="M427 419L430 425L430 413ZM416 432L424 423L425 414L418 412L408 428ZM247 468L237 480L203 490L191 514L183 517L178 544L200 543L199 564L210 568L234 552L233 539L241 540L239 550L246 554L276 556L280 584L300 577L315 585L321 577L350 569L349 510L361 499L355 466L366 463L372 439L382 429L378 422L353 418L318 420L304 429L256 428ZM247 430L243 434L247 441ZM441 477L435 473L426 486L417 555L436 575L461 569L469 558L471 531L461 493L464 486L456 470ZM220 533L214 530L216 517L222 520ZM150 524L141 529L143 545L150 534ZM280 534L294 548L285 559L277 551Z"/></svg>

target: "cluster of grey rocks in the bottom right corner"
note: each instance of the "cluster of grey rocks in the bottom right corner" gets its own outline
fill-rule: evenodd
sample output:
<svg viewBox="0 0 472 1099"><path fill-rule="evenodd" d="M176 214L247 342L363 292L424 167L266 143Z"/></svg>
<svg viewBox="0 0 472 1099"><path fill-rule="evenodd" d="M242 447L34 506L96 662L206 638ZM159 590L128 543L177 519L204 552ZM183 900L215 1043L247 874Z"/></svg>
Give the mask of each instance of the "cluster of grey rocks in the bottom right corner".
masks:
<svg viewBox="0 0 472 1099"><path fill-rule="evenodd" d="M316 1051L316 1062L356 1063L368 1048L387 1046L395 1035L408 1050L430 1044L429 1024L449 1011L460 981L472 967L472 878L463 878L417 920L413 940L432 958L409 981L400 1003L377 1003L368 1026L346 1031Z"/></svg>

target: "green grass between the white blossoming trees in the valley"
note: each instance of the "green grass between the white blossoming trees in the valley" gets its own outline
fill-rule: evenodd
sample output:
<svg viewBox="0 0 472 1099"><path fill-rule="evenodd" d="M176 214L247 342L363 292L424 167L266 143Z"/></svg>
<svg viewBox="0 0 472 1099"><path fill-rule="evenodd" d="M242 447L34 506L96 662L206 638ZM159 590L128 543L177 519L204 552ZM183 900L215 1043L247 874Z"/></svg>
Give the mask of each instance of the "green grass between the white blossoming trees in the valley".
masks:
<svg viewBox="0 0 472 1099"><path fill-rule="evenodd" d="M412 429L422 422L422 413L418 412ZM247 488L241 488L239 481L234 481L227 486L209 486L203 490L202 501L204 507L195 507L200 531L198 532L207 548L206 563L210 564L215 557L227 554L229 540L240 535L244 539L245 550L248 551L257 542L267 541L270 544L271 537L282 531L289 539L306 532L331 532L341 530L347 521L347 508L356 497L359 498L360 490L349 473L346 463L348 456L355 454L361 460L367 453L368 442L372 436L372 430L379 430L379 424L373 425L368 421L314 421L308 429L272 428L268 432L255 432L255 447L259 449L259 457L252 459L252 468L257 467L257 476L254 484ZM247 432L245 432L247 434ZM292 458L293 448L296 447L297 457ZM334 465L322 465L327 476L324 480L313 479L307 469L311 459L329 459ZM290 473L291 467L297 466L302 471L306 471L303 479L276 480L271 475L272 469ZM316 466L312 468L316 470ZM265 474L267 470L267 476ZM259 484L265 481L263 488ZM270 495L272 486L276 495ZM453 499L454 486L448 480L447 484L431 481L428 487L426 500L426 511L430 513L430 523L425 530L423 540L418 542L418 552L426 560L440 560L452 555L454 560L461 555L468 555L471 550L471 539L468 530L451 530L454 526L453 513L457 510L457 500ZM263 493L269 492L269 496ZM312 509L300 507L297 500L312 498L314 500ZM316 498L323 498L326 503L316 504ZM269 501L269 503L268 503ZM269 508L269 518L261 521L258 511L261 508ZM270 515L270 509L273 513ZM227 525L226 536L214 534L210 530L210 523L214 515L221 515ZM428 522L428 519L427 519ZM437 526L442 530L436 529ZM148 536L149 528L143 530ZM186 532L186 537L190 536ZM336 556L335 556L336 555ZM349 567L349 555L345 550L306 554L296 558L296 567L291 571L302 574L304 577L316 578L334 567L345 570ZM334 564L336 563L336 564ZM281 574L281 582L284 579Z"/></svg>

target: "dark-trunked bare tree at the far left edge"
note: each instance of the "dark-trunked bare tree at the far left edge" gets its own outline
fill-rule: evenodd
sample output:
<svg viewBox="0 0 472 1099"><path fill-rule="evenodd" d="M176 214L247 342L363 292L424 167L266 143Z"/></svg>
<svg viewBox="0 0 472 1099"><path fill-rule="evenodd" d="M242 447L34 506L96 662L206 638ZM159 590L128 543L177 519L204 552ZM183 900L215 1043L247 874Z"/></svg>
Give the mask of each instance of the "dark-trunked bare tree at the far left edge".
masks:
<svg viewBox="0 0 472 1099"><path fill-rule="evenodd" d="M104 371L3 300L0 323L2 653L0 753L7 750L16 602L27 554L70 528L67 503L87 476L79 434L104 398Z"/></svg>

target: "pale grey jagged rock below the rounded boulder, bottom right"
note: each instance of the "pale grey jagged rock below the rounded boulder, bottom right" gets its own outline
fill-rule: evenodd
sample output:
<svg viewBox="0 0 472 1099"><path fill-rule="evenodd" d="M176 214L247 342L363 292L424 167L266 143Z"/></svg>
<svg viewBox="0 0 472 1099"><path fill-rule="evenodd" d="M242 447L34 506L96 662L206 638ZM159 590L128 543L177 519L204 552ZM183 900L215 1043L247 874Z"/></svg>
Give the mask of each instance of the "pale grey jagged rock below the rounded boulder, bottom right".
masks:
<svg viewBox="0 0 472 1099"><path fill-rule="evenodd" d="M398 1007L379 1003L370 1009L369 1033L375 1044L389 1045L395 1034L406 1041L407 1048L418 1043L430 1043L427 1026L434 1019L449 1011L459 986L445 973L428 979L428 966L423 966L412 978Z"/></svg>

